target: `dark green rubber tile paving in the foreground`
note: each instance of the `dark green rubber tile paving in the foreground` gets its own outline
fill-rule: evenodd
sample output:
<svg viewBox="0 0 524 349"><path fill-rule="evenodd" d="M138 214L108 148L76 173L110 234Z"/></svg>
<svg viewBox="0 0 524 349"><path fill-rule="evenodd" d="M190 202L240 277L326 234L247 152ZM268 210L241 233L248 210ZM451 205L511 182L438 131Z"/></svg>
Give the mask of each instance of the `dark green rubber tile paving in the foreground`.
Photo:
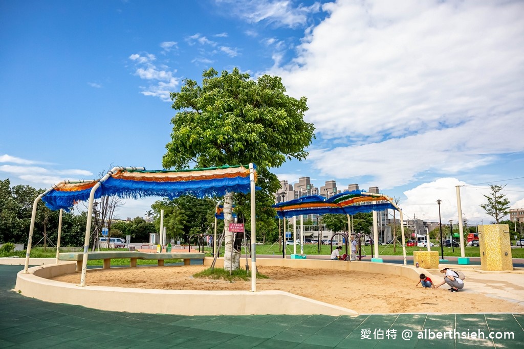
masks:
<svg viewBox="0 0 524 349"><path fill-rule="evenodd" d="M112 312L21 296L12 291L21 269L0 265L0 348L524 348L522 314L190 317ZM457 333L450 339L448 331ZM479 333L484 338L477 338ZM490 333L495 338L488 338Z"/></svg>

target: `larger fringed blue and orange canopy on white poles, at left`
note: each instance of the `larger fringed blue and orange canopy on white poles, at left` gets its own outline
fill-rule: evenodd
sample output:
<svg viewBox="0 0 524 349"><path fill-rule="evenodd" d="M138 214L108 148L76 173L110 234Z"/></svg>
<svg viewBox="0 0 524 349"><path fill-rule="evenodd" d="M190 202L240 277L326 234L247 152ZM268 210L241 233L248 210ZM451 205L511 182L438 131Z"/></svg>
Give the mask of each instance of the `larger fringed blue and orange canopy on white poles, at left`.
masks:
<svg viewBox="0 0 524 349"><path fill-rule="evenodd" d="M85 228L80 286L85 286L93 202L103 196L121 198L163 196L176 198L181 195L224 196L226 193L250 193L252 227L252 291L256 291L256 215L255 215L255 165L196 168L181 171L146 171L145 167L113 167L105 176L93 181L62 181L40 194L33 203L29 238L27 242L24 273L27 274L32 235L35 228L36 209L41 199L51 210L70 210L79 201L88 200L88 219ZM57 251L59 245L57 245ZM58 258L58 256L57 256Z"/></svg>

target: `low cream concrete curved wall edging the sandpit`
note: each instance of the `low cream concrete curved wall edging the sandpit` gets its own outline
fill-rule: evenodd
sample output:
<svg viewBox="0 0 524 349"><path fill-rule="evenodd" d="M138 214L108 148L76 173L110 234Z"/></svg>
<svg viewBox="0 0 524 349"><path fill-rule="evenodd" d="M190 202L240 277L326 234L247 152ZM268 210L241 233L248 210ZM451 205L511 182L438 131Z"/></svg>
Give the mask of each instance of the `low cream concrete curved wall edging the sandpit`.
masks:
<svg viewBox="0 0 524 349"><path fill-rule="evenodd" d="M205 258L204 264L211 265ZM322 260L258 258L259 266L355 270L369 273L418 277L424 272L410 266ZM223 260L217 260L217 267ZM190 291L84 286L57 282L49 278L75 272L74 262L36 266L17 275L15 291L27 297L54 303L69 303L111 311L165 313L180 315L325 314L356 315L351 309L297 296L283 291ZM88 276L89 284L89 276Z"/></svg>

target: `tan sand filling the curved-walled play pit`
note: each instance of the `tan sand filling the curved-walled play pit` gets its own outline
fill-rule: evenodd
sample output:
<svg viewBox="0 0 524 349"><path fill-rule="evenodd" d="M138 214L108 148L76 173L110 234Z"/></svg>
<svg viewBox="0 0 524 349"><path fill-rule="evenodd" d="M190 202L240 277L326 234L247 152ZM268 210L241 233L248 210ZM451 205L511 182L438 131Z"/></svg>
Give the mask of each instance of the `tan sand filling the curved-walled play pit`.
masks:
<svg viewBox="0 0 524 349"><path fill-rule="evenodd" d="M173 290L250 290L250 282L193 278L204 266L167 266L91 269L88 285L173 289ZM368 274L328 269L258 267L269 279L258 279L257 290L281 290L299 296L353 309L361 314L378 313L522 313L515 302L487 297L467 289L449 292L415 287L417 280L400 276ZM62 275L54 280L80 283L80 273ZM441 277L434 275L437 284ZM467 281L467 280L466 280Z"/></svg>

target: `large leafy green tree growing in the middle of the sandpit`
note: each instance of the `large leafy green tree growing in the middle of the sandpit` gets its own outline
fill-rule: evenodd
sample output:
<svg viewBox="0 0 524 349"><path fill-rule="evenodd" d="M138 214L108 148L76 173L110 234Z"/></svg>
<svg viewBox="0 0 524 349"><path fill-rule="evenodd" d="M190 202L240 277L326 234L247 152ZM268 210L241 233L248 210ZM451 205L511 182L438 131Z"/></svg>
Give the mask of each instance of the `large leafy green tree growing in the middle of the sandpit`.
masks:
<svg viewBox="0 0 524 349"><path fill-rule="evenodd" d="M305 159L314 127L303 120L307 99L285 94L280 77L263 75L256 81L237 68L219 76L213 68L202 74L202 85L185 80L180 92L171 93L172 108L179 110L171 120L173 131L165 168L210 167L257 164L260 196L271 196L278 179L269 168L279 167L286 159ZM258 202L258 201L257 201ZM267 202L267 201L265 201ZM233 258L233 194L224 197L226 252L224 268L239 267L239 252ZM259 209L259 211L261 211ZM274 216L274 212L273 216ZM246 218L249 215L246 212ZM247 221L247 220L246 220Z"/></svg>

